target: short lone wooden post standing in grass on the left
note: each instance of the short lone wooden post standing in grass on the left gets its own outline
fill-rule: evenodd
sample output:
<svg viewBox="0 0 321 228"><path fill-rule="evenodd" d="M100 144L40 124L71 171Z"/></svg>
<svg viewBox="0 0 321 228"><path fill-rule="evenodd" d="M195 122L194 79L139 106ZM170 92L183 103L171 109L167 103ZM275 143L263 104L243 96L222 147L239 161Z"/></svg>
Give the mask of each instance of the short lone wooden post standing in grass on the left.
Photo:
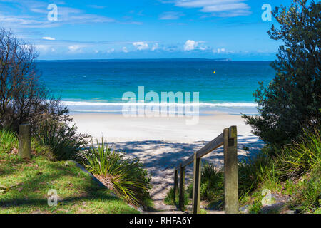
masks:
<svg viewBox="0 0 321 228"><path fill-rule="evenodd" d="M19 155L21 158L31 158L31 125L19 125Z"/></svg>

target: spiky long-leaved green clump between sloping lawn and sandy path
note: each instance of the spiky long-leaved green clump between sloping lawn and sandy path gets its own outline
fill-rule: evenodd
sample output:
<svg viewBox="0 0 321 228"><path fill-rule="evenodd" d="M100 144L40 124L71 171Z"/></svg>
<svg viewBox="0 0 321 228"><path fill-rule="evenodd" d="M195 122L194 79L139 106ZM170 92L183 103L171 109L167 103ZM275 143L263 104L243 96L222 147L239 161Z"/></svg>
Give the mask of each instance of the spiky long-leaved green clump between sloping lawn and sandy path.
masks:
<svg viewBox="0 0 321 228"><path fill-rule="evenodd" d="M101 143L97 140L97 147L92 143L86 159L88 171L129 203L144 204L150 198L151 178L138 159L126 158L121 150L105 145L103 139Z"/></svg>

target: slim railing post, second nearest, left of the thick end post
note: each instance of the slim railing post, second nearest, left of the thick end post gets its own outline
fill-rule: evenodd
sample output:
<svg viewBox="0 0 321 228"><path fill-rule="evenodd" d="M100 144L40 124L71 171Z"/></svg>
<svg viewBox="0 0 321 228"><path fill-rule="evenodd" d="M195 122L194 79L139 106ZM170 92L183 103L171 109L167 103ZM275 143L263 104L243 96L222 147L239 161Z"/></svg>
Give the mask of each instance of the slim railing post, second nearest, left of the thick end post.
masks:
<svg viewBox="0 0 321 228"><path fill-rule="evenodd" d="M197 157L197 152L194 152L194 180L193 180L193 214L200 213L200 158Z"/></svg>

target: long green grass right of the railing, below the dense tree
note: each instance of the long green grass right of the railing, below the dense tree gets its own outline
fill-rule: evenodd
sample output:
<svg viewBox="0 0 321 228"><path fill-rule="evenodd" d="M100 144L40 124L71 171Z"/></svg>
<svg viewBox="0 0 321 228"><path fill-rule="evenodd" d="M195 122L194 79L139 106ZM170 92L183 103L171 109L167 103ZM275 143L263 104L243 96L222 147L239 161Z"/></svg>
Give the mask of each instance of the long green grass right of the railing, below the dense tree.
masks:
<svg viewBox="0 0 321 228"><path fill-rule="evenodd" d="M269 149L248 162L240 162L241 204L252 204L250 212L260 212L262 191L290 195L286 207L301 213L320 211L321 140L320 128L305 131L297 142L269 153Z"/></svg>

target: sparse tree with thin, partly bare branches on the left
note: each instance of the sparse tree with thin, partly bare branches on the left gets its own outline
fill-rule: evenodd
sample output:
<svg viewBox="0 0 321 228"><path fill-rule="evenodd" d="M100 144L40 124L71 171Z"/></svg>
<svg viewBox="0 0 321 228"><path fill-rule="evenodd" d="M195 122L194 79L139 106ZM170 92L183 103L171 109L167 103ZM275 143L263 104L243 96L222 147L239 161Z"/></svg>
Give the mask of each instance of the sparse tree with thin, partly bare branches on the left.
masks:
<svg viewBox="0 0 321 228"><path fill-rule="evenodd" d="M0 29L0 127L18 130L29 122L36 128L41 117L69 120L60 100L49 98L36 71L38 53L33 45L19 41L11 31Z"/></svg>

